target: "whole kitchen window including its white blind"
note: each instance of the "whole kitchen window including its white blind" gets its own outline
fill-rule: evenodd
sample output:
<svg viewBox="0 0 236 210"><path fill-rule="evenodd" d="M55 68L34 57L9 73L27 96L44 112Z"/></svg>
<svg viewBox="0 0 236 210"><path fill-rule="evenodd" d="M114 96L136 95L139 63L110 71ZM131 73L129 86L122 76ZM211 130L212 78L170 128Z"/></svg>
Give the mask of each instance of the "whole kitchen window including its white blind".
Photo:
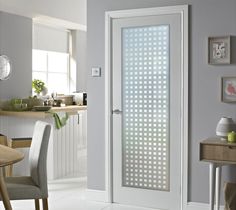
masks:
<svg viewBox="0 0 236 210"><path fill-rule="evenodd" d="M32 79L45 82L48 94L76 89L75 39L71 30L33 25Z"/></svg>

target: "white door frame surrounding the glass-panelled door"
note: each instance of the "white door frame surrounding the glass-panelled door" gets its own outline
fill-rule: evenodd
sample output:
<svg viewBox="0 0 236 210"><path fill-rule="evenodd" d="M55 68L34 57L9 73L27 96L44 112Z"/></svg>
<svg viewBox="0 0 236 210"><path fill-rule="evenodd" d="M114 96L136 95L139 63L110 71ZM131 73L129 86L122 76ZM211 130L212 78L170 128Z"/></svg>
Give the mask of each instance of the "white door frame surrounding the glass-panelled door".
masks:
<svg viewBox="0 0 236 210"><path fill-rule="evenodd" d="M112 20L127 17L179 14L181 16L181 210L188 202L188 5L108 11L105 13L105 197L113 202L112 171Z"/></svg>

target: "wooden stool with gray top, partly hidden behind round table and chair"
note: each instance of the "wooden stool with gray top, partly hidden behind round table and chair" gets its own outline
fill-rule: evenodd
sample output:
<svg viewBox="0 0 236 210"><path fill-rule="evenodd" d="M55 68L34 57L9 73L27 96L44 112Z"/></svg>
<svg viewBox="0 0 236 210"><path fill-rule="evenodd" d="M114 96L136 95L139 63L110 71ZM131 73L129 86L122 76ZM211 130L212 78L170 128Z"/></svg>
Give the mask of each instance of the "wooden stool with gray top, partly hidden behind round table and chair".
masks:
<svg viewBox="0 0 236 210"><path fill-rule="evenodd" d="M8 146L11 148L26 148L31 146L32 138L11 138L8 139ZM12 176L13 165L9 166L9 170L6 171L6 176Z"/></svg>

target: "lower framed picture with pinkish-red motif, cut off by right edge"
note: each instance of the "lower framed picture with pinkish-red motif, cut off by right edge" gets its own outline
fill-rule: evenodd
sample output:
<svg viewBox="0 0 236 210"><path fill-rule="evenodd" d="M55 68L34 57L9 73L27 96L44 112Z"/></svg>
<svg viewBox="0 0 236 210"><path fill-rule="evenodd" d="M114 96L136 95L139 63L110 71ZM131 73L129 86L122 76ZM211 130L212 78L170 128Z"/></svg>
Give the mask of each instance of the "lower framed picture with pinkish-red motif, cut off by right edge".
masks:
<svg viewBox="0 0 236 210"><path fill-rule="evenodd" d="M236 102L236 77L221 78L221 101Z"/></svg>

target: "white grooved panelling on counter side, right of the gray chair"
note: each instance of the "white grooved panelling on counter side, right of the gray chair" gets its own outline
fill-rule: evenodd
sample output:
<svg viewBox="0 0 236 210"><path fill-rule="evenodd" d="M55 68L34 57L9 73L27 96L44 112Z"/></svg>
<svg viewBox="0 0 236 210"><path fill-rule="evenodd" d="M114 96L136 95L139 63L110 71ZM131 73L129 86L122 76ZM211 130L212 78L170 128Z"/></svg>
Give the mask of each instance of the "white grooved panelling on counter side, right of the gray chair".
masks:
<svg viewBox="0 0 236 210"><path fill-rule="evenodd" d="M71 115L63 128L53 129L53 145L50 145L53 161L50 161L52 165L48 167L53 179L81 176L83 170L86 170L86 163L83 162L87 156L86 121L86 111L80 111L78 115Z"/></svg>

